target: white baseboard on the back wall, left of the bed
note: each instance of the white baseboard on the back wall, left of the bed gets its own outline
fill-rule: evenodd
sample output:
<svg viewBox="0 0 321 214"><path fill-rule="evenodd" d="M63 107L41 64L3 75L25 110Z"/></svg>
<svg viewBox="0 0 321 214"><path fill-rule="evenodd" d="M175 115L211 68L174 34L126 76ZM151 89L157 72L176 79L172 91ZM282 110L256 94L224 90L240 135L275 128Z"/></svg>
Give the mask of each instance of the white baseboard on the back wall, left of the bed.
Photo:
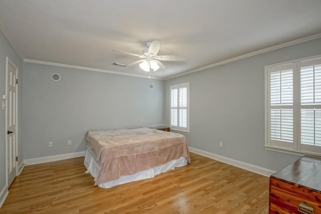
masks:
<svg viewBox="0 0 321 214"><path fill-rule="evenodd" d="M59 154L59 155L53 155L53 156L47 156L47 157L30 158L30 159L25 159L24 164L34 165L39 163L48 163L48 162L53 162L58 160L65 160L65 159L74 158L74 157L83 157L85 156L85 153L86 153L85 151L80 151L80 152Z"/></svg>

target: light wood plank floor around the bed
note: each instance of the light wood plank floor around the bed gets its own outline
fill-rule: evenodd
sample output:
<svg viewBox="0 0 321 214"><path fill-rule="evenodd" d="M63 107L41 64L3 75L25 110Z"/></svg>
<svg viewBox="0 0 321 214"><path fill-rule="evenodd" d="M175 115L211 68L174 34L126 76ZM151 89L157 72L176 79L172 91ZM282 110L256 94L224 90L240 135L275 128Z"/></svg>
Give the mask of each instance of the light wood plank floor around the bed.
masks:
<svg viewBox="0 0 321 214"><path fill-rule="evenodd" d="M268 177L194 153L190 165L108 189L83 160L26 166L0 213L268 213Z"/></svg>

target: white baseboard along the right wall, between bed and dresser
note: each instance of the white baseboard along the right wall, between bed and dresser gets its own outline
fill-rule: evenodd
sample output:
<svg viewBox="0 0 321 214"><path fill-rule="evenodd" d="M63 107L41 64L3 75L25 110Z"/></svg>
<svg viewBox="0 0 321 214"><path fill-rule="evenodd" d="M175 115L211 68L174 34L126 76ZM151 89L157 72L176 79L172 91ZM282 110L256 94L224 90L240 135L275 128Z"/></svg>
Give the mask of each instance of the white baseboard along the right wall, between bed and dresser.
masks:
<svg viewBox="0 0 321 214"><path fill-rule="evenodd" d="M229 158L229 157L225 157L225 156L222 156L222 155L219 155L219 154L214 154L214 153L211 153L211 152L208 152L208 151L203 151L201 149L193 148L193 147L190 147L190 146L189 146L189 150L190 150L190 152L193 152L193 153L196 153L196 154L199 154L199 155L202 155L202 156L214 159L214 160L218 160L218 161L221 161L223 163L227 163L227 164L230 164L230 165L233 165L233 166L236 166L236 167L239 167L239 168L251 171L251 172L255 172L257 174L261 174L261 175L264 175L264 176L267 176L267 177L269 177L270 175L272 175L272 174L274 174L276 172L276 171L271 170L271 169L263 168L261 166L253 165L253 164L246 163L246 162L242 162L242 161L235 160L235 159L232 159L232 158Z"/></svg>

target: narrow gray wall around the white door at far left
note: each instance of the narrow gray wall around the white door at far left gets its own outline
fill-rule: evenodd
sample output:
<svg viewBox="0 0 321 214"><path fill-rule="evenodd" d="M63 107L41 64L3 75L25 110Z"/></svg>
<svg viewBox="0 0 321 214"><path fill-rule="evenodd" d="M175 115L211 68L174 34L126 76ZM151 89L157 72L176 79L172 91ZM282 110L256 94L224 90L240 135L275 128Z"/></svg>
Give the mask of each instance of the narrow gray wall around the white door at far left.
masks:
<svg viewBox="0 0 321 214"><path fill-rule="evenodd" d="M0 30L0 191L6 185L6 110L2 109L2 95L6 94L6 57L19 68L19 79L23 77L23 62L15 49L11 46L3 32ZM21 130L21 110L22 110L22 81L18 84L18 128ZM21 132L18 133L19 139L19 164L23 160L23 148L21 142Z"/></svg>

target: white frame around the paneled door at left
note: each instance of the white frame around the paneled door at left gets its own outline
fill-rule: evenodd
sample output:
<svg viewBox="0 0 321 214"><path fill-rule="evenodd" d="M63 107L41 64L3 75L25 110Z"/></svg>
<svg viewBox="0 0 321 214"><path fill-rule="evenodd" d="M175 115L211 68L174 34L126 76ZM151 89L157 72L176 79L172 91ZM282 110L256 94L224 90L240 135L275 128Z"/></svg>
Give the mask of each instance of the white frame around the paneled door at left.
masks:
<svg viewBox="0 0 321 214"><path fill-rule="evenodd" d="M11 61L9 59L9 57L6 57L6 130L5 133L7 134L8 131L8 65L11 64L17 72L17 76L16 79L18 79L18 72L19 72L19 68L15 65L15 63L13 61ZM18 156L18 88L19 88L19 84L16 86L16 157ZM16 177L18 175L18 171L19 171L19 165L18 165L19 161L17 161L16 159ZM8 186L8 135L6 135L6 185Z"/></svg>

